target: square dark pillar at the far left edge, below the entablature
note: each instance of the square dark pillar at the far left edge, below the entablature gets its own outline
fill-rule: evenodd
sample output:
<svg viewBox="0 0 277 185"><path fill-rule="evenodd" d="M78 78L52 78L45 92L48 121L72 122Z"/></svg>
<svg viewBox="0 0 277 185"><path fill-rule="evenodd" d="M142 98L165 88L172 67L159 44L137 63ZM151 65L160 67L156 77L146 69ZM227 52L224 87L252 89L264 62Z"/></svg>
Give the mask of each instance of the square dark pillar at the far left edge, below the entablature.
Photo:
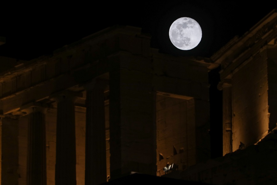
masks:
<svg viewBox="0 0 277 185"><path fill-rule="evenodd" d="M0 117L1 184L18 184L18 119Z"/></svg>

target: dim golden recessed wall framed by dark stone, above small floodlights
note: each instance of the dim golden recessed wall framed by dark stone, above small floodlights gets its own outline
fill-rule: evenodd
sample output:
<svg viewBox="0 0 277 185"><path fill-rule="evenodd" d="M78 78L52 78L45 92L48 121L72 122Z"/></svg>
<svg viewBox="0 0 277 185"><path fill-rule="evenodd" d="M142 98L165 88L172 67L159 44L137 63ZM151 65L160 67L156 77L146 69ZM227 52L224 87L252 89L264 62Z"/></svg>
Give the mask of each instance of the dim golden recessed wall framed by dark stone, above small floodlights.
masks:
<svg viewBox="0 0 277 185"><path fill-rule="evenodd" d="M174 163L179 170L195 164L194 100L157 95L157 176Z"/></svg>

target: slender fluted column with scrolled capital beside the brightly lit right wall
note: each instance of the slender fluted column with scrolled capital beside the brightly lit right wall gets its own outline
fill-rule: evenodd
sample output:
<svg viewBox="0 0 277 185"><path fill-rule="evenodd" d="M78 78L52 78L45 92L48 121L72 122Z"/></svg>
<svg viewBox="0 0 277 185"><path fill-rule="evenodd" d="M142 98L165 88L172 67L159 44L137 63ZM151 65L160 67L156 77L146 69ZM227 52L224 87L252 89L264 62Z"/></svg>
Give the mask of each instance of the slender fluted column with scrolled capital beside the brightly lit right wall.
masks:
<svg viewBox="0 0 277 185"><path fill-rule="evenodd" d="M232 152L232 82L225 79L219 90L223 90L223 156Z"/></svg>

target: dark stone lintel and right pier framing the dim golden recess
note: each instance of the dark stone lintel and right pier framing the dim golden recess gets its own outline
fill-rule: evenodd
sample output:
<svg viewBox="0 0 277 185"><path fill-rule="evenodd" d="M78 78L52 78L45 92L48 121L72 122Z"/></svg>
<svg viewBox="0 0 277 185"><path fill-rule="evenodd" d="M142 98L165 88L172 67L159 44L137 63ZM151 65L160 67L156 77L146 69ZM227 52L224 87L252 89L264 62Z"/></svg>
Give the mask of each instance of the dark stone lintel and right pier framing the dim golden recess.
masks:
<svg viewBox="0 0 277 185"><path fill-rule="evenodd" d="M153 89L158 95L189 100L194 98L195 162L210 158L210 102L208 68L193 60L170 59L166 54L153 52ZM159 169L158 169L159 170Z"/></svg>

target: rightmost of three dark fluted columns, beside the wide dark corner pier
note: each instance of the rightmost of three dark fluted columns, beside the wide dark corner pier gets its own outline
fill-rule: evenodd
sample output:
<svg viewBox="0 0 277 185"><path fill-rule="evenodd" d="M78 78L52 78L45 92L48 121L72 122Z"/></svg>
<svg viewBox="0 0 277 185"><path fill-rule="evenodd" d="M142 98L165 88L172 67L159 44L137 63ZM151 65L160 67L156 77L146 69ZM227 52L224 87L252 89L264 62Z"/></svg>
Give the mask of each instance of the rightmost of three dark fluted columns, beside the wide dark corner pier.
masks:
<svg viewBox="0 0 277 185"><path fill-rule="evenodd" d="M98 185L107 180L105 81L96 80L86 91L86 167L85 185Z"/></svg>

